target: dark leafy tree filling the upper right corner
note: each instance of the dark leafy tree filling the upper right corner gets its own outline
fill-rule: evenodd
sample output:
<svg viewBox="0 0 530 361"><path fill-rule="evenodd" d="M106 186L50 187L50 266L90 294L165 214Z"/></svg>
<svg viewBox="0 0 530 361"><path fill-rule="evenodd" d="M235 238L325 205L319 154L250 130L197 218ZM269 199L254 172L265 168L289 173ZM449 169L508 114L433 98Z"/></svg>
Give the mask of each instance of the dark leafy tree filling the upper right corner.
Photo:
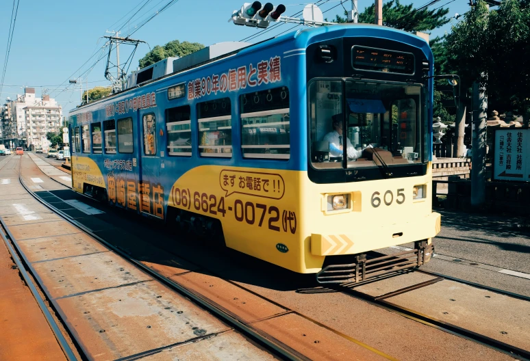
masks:
<svg viewBox="0 0 530 361"><path fill-rule="evenodd" d="M505 0L489 11L479 0L447 34L446 66L462 78L485 85L488 108L530 118L530 2Z"/></svg>

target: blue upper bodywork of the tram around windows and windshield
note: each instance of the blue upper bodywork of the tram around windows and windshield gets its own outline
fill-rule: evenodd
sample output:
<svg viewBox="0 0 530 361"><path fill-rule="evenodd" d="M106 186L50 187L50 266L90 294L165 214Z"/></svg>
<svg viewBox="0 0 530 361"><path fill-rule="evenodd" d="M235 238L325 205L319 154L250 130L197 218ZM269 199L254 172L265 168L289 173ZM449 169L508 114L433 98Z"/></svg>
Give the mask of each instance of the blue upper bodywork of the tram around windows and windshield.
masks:
<svg viewBox="0 0 530 361"><path fill-rule="evenodd" d="M197 167L199 165L225 165L238 166L249 168L269 168L281 170L307 170L307 80L306 80L306 58L305 49L310 44L315 42L322 42L331 40L333 38L344 37L373 37L394 40L403 42L420 49L425 54L429 63L433 63L433 55L429 45L425 40L418 38L405 31L399 31L390 27L381 27L376 25L333 25L328 27L319 27L312 29L303 29L293 31L290 34L279 36L265 42L249 46L242 49L236 55L230 55L214 62L198 66L189 70L178 72L174 75L165 77L158 81L153 81L147 85L142 85L138 88L133 88L112 96L105 98L96 103L81 107L71 111L71 116L77 118L72 119L75 126L81 124L88 124L94 122L101 122L104 120L118 120L120 118L132 117L134 120L134 153L131 154L116 154L116 155L91 155L94 160L103 159L130 159L144 158L149 160L144 163L150 167L155 167L155 163L164 163L164 168L171 169L174 174L173 179L178 178L187 170ZM271 64L274 59L279 58L281 66L280 77L269 77L267 80L262 80L259 83L257 78L257 69L260 62L267 62ZM223 83L223 79L228 81L230 70L238 71L242 69L249 75L253 70L256 70L255 75L247 77L247 82L240 84L240 89L230 90L229 84ZM241 70L242 71L242 70ZM432 75L432 67L429 70L429 75ZM201 91L199 94L194 92L193 96L184 96L183 98L168 100L167 90L173 85L179 83L186 84L186 95L188 95L190 82L193 84L196 81L205 83L210 78L210 81L215 76L219 77L220 90L214 92L210 87L210 91ZM226 78L225 78L226 76ZM253 83L255 85L253 86ZM212 83L210 83L211 85ZM223 92L224 85L227 89ZM241 144L241 126L240 126L240 106L239 96L249 92L257 92L260 90L267 90L281 86L288 87L290 94L290 159L244 159L242 157ZM429 81L429 119L432 118L432 81ZM204 88L201 88L203 90ZM138 106L133 106L136 101L135 98L145 94L155 94L155 107L147 107L146 109L138 109ZM231 158L218 157L201 157L199 155L199 131L197 126L197 103L203 101L210 101L218 98L230 98L232 109L232 144L233 155ZM150 95L151 99L151 95ZM167 137L166 120L164 119L165 110L168 108L179 107L181 105L190 105L191 107L191 136L192 136L192 156L191 157L173 157L167 155ZM131 109L129 109L131 108ZM83 113L85 114L83 116ZM154 157L144 157L141 147L142 139L142 123L141 119L145 113L155 113L156 117L156 145L157 155ZM431 126L431 122L428 122ZM164 135L159 135L160 131ZM432 133L432 129L429 129ZM430 137L430 140L432 137ZM429 142L429 139L428 139ZM103 147L104 148L104 147ZM428 144L429 155L431 154L431 142ZM164 152L163 154L161 153ZM141 154L140 154L141 153ZM81 154L78 154L81 155ZM159 170L149 170L149 174L157 176ZM160 173L159 173L160 174Z"/></svg>

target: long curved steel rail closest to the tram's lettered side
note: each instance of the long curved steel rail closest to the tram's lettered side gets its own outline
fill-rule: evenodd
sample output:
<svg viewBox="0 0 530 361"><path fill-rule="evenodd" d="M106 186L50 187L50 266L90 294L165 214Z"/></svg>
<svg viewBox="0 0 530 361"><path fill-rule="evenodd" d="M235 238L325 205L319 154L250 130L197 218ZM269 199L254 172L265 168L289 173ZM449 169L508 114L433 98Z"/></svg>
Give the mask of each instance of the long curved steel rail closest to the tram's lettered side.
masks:
<svg viewBox="0 0 530 361"><path fill-rule="evenodd" d="M33 161L32 159L30 159ZM22 159L21 159L21 165L22 165ZM142 269L142 271L148 273L150 276L153 276L157 280L160 280L167 286L170 286L171 289L174 289L175 291L178 291L181 293L181 295L184 295L191 299L195 304L198 304L199 306L205 308L206 310L212 312L212 314L216 315L218 319L222 319L223 321L229 323L229 325L233 326L236 330L247 336L248 338L251 338L257 343L260 343L263 347L266 347L269 351L272 351L277 356L281 356L281 358L286 360L303 360L303 361L309 361L310 358L307 358L303 354L299 353L298 351L292 349L288 345L285 345L284 343L281 343L281 341L277 340L273 336L270 336L269 334L266 334L260 330L255 329L252 327L252 325L245 323L241 319L237 317L237 315L234 315L229 310L226 310L222 306L216 304L210 299L206 299L202 295L199 295L198 293L194 291L190 291L189 289L186 289L186 287L181 286L180 284L177 284L176 282L173 282L172 280L169 280L168 278L160 275L160 273L157 273L150 267L147 267L143 263L141 263L139 260L136 260L129 256L125 251L121 250L120 248L112 245L112 243L109 243L108 241L105 241L105 239L99 237L96 235L92 230L81 224L80 222L75 221L75 219L72 219L69 215L61 211L60 209L55 208L55 206L49 204L45 200L42 200L39 196L37 196L34 191L31 191L27 185L25 185L23 181L23 177L21 174L21 167L19 168L19 174L18 174L18 181L21 183L21 185L26 189L26 191L31 194L38 202L46 206L47 208L51 209L54 213L60 215L63 217L66 222L69 222L73 226L79 228L86 234L90 235L90 237L93 237L106 247L108 247L110 250L116 252L116 254L122 256L125 258L125 260L129 261L129 263L132 263L136 267ZM49 177L50 178L50 177ZM6 231L8 229L6 228ZM9 231L8 231L9 232Z"/></svg>

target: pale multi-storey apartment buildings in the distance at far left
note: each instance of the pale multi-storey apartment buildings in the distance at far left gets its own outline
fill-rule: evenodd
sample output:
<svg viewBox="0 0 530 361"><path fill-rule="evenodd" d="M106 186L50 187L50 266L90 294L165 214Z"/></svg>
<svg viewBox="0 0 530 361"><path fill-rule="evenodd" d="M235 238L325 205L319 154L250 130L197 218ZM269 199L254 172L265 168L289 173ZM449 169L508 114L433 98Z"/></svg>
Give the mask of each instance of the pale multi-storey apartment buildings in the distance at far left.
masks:
<svg viewBox="0 0 530 361"><path fill-rule="evenodd" d="M5 109L5 108L8 109ZM49 95L36 98L34 88L25 88L24 94L4 105L9 121L9 136L4 132L4 144L7 140L12 146L34 149L36 146L47 148L47 133L60 133L62 107ZM3 120L5 120L5 117ZM5 122L4 122L5 123ZM5 127L4 127L5 129ZM5 144L8 146L8 144Z"/></svg>

